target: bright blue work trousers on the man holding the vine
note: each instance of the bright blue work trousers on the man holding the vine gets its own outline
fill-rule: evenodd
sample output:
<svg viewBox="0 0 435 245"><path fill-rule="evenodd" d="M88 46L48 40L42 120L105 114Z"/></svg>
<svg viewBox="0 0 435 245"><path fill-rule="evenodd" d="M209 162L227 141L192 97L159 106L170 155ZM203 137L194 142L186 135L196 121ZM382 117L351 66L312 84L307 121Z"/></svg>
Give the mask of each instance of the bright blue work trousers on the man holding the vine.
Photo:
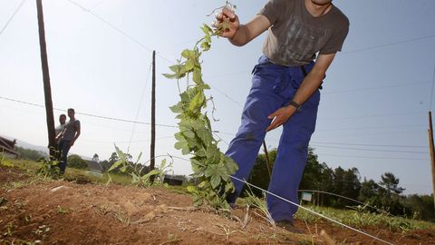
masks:
<svg viewBox="0 0 435 245"><path fill-rule="evenodd" d="M314 63L304 65L309 73ZM273 64L262 56L253 71L252 88L242 113L241 126L230 142L226 155L238 164L235 177L247 180L271 120L268 115L291 102L304 80L300 66ZM268 191L298 203L297 190L308 156L308 143L314 132L320 92L317 90L290 119L283 124L274 170ZM266 174L266 173L265 173ZM228 197L234 203L243 189L243 182L233 181L236 192ZM267 208L275 221L289 220L297 207L267 195Z"/></svg>

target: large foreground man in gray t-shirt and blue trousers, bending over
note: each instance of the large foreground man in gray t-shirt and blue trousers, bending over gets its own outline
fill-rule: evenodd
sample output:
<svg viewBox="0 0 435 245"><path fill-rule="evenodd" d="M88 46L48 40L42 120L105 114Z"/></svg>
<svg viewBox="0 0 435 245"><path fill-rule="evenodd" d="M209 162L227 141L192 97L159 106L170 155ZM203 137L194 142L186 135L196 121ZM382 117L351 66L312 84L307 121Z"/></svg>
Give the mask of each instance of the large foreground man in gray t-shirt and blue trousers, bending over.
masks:
<svg viewBox="0 0 435 245"><path fill-rule="evenodd" d="M235 177L248 178L266 132L283 125L268 191L298 203L319 88L335 54L342 49L349 20L332 0L269 0L246 25L240 25L237 15L227 8L217 15L215 27L223 22L228 22L229 28L221 35L237 46L267 31L242 124L226 153L239 167ZM227 197L229 203L236 201L243 188L242 182L233 183L236 192ZM272 195L267 195L266 201L276 223L295 230L297 207Z"/></svg>

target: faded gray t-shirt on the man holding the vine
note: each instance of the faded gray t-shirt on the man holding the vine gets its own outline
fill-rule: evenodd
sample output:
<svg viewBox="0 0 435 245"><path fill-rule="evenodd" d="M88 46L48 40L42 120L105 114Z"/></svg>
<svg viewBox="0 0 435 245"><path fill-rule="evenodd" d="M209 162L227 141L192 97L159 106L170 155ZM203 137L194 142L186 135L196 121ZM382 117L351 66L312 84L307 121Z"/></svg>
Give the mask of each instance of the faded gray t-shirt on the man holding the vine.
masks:
<svg viewBox="0 0 435 245"><path fill-rule="evenodd" d="M272 24L263 54L275 64L308 64L317 52L341 51L349 32L348 18L334 5L328 13L314 17L304 0L269 0L259 15L265 15Z"/></svg>

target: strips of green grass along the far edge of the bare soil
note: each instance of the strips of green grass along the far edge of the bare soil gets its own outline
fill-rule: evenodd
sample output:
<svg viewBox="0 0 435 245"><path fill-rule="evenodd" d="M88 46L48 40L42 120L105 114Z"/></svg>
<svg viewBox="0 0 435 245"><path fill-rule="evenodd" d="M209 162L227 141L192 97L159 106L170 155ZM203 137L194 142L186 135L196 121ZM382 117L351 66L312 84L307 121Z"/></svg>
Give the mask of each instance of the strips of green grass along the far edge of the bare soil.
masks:
<svg viewBox="0 0 435 245"><path fill-rule="evenodd" d="M3 165L12 165L16 168L19 168L21 170L26 171L29 175L33 176L29 180L25 181L13 181L8 187L4 188L21 188L25 185L32 184L37 181L50 181L49 179L43 179L42 177L38 176L36 171L41 167L41 164L38 162L33 161L26 161L26 160L4 160L3 162L0 162ZM115 183L115 184L121 184L121 185L130 185L131 184L131 178L128 175L121 175L121 174L108 174L103 173L102 177L98 177L92 174L89 174L85 170L79 170L79 169L73 169L73 168L67 168L64 179L68 181L86 181L86 182L92 182L92 183L99 183L99 184L106 184L106 183ZM168 186L168 185L161 185L161 187L167 188L170 191L177 192L177 193L187 193L186 187L183 186ZM263 200L264 201L264 200ZM245 205L247 201L239 199L237 201L237 204L239 205ZM379 213L372 213L370 211L365 211L361 207L355 207L353 209L349 210L336 210L332 208L325 208L325 207L315 207L311 205L305 206L306 208L313 210L317 213L321 213L326 217L332 218L333 220L337 220L339 222L342 222L343 224L352 226L354 228L361 228L361 227L367 227L367 226L377 226L377 227L383 227L387 228L389 230L393 231L401 231L401 232L407 232L410 230L433 230L435 229L435 224L421 221L421 220L413 220L408 219L405 217L393 217L387 214L379 214ZM302 209L299 209L295 215L295 219L297 220L303 220L307 223L316 223L325 221L323 218L312 214L309 211L304 211Z"/></svg>

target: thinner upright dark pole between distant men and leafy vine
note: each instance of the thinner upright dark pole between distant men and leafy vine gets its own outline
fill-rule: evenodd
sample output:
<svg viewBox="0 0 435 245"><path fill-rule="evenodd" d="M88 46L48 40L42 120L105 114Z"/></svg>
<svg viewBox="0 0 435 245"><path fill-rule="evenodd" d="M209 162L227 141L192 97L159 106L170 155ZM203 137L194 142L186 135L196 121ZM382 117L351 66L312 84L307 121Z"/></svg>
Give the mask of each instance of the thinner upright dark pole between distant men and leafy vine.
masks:
<svg viewBox="0 0 435 245"><path fill-rule="evenodd" d="M156 160L156 51L152 52L152 91L151 91L151 151L150 151L150 171L154 170ZM154 182L154 175L150 177L151 183Z"/></svg>

